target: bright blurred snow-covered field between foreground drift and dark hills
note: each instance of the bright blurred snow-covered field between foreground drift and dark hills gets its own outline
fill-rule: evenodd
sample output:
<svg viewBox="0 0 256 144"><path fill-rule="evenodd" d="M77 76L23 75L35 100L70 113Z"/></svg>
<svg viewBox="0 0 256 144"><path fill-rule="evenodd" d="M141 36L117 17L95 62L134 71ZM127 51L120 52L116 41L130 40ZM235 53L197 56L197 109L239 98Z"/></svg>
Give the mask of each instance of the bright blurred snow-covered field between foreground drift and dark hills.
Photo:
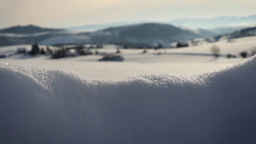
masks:
<svg viewBox="0 0 256 144"><path fill-rule="evenodd" d="M219 58L214 58L210 51L212 44L220 48ZM30 45L13 45L0 47L0 53L16 50L17 47L31 48ZM41 46L43 47L43 46ZM108 47L114 47L109 45ZM235 63L242 62L245 58L239 57L239 52L250 51L256 48L256 36L237 38L232 42L226 40L208 43L199 46L190 46L178 49L148 49L142 54L142 49L120 49L124 57L122 62L97 61L102 56L87 55L49 59L47 56L25 57L22 54L1 58L6 63L35 65L54 69L73 70L90 78L117 79L138 74L172 73L175 75L193 75L213 71ZM115 52L115 48L98 49L99 52ZM94 50L92 50L94 52ZM161 52L161 54L157 54ZM237 55L237 58L227 59L227 53Z"/></svg>

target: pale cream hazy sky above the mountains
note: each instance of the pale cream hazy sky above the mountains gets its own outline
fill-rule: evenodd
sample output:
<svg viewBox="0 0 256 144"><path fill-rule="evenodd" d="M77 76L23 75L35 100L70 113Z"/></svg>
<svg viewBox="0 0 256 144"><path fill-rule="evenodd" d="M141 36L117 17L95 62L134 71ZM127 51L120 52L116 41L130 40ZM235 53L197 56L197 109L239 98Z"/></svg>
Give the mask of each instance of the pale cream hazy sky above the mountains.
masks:
<svg viewBox="0 0 256 144"><path fill-rule="evenodd" d="M256 14L256 0L0 0L0 28Z"/></svg>

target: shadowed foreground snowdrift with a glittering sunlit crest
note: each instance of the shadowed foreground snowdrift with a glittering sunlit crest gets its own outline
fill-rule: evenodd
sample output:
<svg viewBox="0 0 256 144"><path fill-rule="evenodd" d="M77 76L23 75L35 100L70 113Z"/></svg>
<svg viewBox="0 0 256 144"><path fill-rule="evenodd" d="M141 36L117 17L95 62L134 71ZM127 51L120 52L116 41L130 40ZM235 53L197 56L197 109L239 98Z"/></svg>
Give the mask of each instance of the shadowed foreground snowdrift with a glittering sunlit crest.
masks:
<svg viewBox="0 0 256 144"><path fill-rule="evenodd" d="M112 81L1 62L0 143L255 143L255 81L255 56Z"/></svg>

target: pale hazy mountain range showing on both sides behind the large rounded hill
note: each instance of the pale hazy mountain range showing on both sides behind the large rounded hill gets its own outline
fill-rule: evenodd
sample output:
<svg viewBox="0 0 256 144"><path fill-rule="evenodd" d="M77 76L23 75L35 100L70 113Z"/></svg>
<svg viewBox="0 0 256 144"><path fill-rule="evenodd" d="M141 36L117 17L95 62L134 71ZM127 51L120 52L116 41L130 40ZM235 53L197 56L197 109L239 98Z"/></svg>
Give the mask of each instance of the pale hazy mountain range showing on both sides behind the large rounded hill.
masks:
<svg viewBox="0 0 256 144"><path fill-rule="evenodd" d="M147 21L139 21L135 23L148 23ZM248 16L217 16L213 18L177 18L166 20L164 23L172 24L177 27L187 27L192 29L207 29L217 34L225 34L240 30L242 28L256 25L256 14ZM132 24L131 22L113 22L105 24L88 24L80 26L65 27L69 30L92 31L108 27L116 27L121 25Z"/></svg>

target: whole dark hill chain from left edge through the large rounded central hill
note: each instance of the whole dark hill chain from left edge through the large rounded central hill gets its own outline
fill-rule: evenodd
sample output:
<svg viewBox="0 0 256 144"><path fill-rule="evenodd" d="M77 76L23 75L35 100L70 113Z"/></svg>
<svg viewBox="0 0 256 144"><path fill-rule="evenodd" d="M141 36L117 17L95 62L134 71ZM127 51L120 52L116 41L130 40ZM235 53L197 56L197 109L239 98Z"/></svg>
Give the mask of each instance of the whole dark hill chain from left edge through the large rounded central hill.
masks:
<svg viewBox="0 0 256 144"><path fill-rule="evenodd" d="M28 31L18 31L13 29L22 30L28 29ZM25 28L24 28L25 27ZM8 32L0 33L0 45L12 45L12 44L46 44L46 45L54 45L54 44L80 44L80 43L95 43L95 44L103 44L103 43L116 43L116 44L135 44L135 45L148 45L148 46L156 46L159 43L163 46L169 47L171 42L175 41L187 41L193 38L201 38L206 37L199 33L195 33L190 30L180 29L170 24L162 24L162 23L142 23L142 24L132 24L125 26L117 26L105 28L102 30L94 31L94 32L81 32L81 33L73 33L68 31L58 31L62 29L50 29L50 28L40 28L36 27L35 29L40 30L32 30L35 26L18 26L11 27L9 29L4 29L2 31ZM30 31L29 31L30 29ZM46 30L52 30L55 32L45 32ZM19 32L19 33L31 33L37 32L34 34L9 34L9 32ZM38 33L38 32L41 33ZM44 31L44 32L43 32Z"/></svg>

